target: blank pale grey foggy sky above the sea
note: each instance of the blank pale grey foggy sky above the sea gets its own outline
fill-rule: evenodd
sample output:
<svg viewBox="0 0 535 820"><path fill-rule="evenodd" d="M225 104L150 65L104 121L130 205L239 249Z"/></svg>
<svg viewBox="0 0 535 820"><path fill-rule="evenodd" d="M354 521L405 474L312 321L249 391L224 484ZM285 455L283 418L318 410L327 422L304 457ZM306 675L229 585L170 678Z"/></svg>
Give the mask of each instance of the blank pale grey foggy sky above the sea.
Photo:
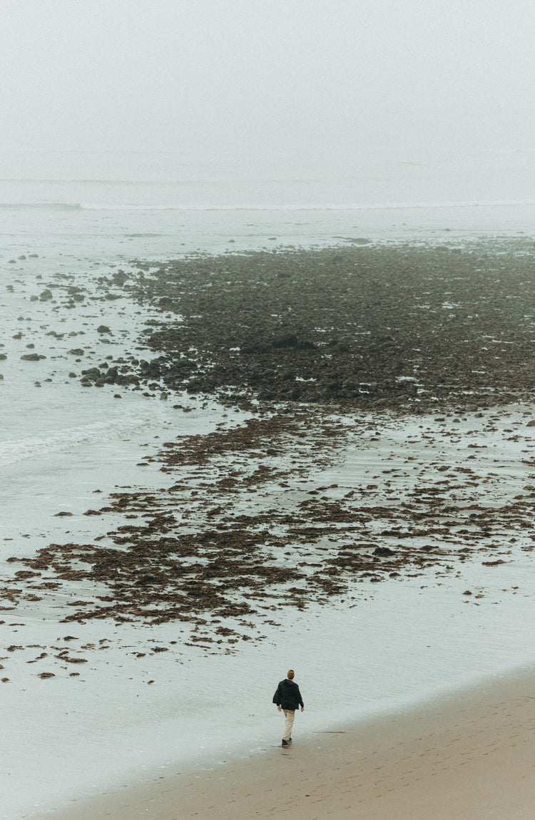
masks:
<svg viewBox="0 0 535 820"><path fill-rule="evenodd" d="M0 0L0 144L535 148L533 0Z"/></svg>

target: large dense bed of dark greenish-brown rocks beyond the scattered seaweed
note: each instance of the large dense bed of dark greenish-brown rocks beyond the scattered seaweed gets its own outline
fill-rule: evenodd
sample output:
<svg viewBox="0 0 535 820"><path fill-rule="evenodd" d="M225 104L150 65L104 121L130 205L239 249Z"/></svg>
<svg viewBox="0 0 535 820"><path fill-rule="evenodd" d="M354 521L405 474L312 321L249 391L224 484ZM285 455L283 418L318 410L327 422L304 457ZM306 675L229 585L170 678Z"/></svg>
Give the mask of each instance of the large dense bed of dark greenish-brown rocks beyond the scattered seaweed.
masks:
<svg viewBox="0 0 535 820"><path fill-rule="evenodd" d="M527 394L533 243L453 250L195 256L141 271L130 294L166 317L146 328L143 343L156 355L139 362L131 383L242 406L254 398L402 411Z"/></svg>

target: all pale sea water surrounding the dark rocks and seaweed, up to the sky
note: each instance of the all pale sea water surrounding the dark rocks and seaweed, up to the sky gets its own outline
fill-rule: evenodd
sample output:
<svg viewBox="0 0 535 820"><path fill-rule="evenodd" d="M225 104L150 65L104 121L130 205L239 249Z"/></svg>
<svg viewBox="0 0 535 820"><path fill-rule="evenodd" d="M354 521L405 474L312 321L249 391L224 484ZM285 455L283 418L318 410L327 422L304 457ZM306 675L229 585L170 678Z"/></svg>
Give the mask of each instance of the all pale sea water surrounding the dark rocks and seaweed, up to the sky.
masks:
<svg viewBox="0 0 535 820"><path fill-rule="evenodd" d="M82 513L94 506L95 491L105 497L117 485L162 485L166 478L157 466L138 466L139 453L153 452L167 435L213 430L223 415L215 403L199 399L180 399L190 403L185 414L171 402L131 391L120 390L116 399L115 386L82 388L71 372L110 355L144 356L138 336L151 314L126 298L88 296L72 309L59 298L32 300L49 283L85 287L90 294L98 276L132 260L192 252L351 239L459 244L535 234L533 160L524 155L311 168L285 157L248 166L229 156L3 151L0 178L0 354L7 357L0 360L1 575L11 555L50 541L94 537L101 522ZM112 333L99 334L101 324ZM45 358L21 360L31 352ZM226 415L229 423L243 419ZM388 444L400 448L404 437L398 426ZM350 459L345 469L358 474L356 463ZM512 495L522 476L511 470L514 480L504 492ZM58 510L73 517L66 523L55 517ZM52 813L118 778L133 782L157 767L180 771L176 766L189 758L204 765L221 761L243 753L245 733L248 753L262 749L280 729L263 701L269 706L289 665L308 681L312 708L310 717L305 713L309 722L300 725L313 731L531 662L533 572L526 565L522 594L505 596L496 607L500 586L510 588L516 579L508 567L493 577L496 601L480 608L460 606L464 579L433 597L416 583L392 585L370 594L369 605L350 617L340 609L300 615L270 633L265 645L231 658L203 658L191 649L170 667L154 656L150 673L160 686L146 686L149 667L140 672L137 662L117 652L94 663L83 694L59 680L45 694L49 683L29 677L25 656L10 657L10 681L2 688L10 754L2 761L1 816ZM48 610L26 607L24 622L0 626L0 645L54 640L57 625ZM102 629L88 626L85 640L98 640ZM168 640L171 632L167 626L157 636ZM123 644L149 640L140 627L122 634ZM342 649L348 641L350 660ZM320 646L326 649L318 665L313 658ZM333 673L337 706L322 703ZM240 718L221 690L236 690L249 677L251 703ZM358 697L348 694L355 686Z"/></svg>

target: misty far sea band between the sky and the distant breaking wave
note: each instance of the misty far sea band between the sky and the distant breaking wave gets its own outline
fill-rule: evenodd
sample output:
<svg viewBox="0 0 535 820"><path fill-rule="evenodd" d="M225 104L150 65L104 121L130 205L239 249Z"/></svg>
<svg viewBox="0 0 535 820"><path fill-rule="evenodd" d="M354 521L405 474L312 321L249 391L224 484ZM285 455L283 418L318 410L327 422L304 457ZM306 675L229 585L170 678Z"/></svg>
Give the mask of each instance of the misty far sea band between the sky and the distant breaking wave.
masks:
<svg viewBox="0 0 535 820"><path fill-rule="evenodd" d="M533 202L535 152L0 149L2 204L343 209Z"/></svg>

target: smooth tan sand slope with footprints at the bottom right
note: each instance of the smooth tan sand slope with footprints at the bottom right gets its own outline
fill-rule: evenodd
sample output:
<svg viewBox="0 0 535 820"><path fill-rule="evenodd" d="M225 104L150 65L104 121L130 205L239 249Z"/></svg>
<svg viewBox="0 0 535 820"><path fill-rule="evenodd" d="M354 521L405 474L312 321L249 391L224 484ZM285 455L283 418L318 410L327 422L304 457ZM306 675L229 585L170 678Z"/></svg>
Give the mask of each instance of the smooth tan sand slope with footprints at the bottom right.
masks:
<svg viewBox="0 0 535 820"><path fill-rule="evenodd" d="M305 712L306 715L306 712ZM95 795L56 820L290 817L522 820L535 804L535 675L503 679L387 713L290 749ZM340 728L340 727L337 727ZM48 817L51 815L48 814Z"/></svg>

